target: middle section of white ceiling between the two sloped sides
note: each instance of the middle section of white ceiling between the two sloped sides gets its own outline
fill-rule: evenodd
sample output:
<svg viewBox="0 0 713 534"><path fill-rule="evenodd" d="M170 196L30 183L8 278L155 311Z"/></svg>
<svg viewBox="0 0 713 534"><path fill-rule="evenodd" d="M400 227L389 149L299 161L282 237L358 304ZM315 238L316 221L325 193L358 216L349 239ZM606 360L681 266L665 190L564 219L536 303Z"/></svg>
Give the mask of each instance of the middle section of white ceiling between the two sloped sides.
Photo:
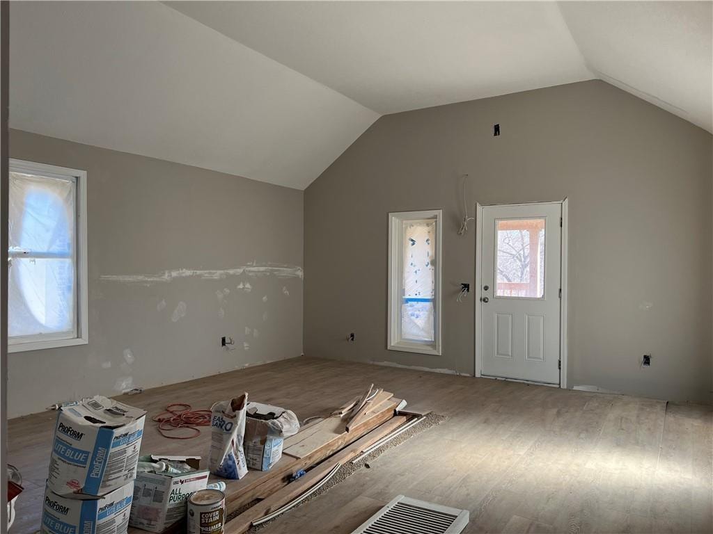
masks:
<svg viewBox="0 0 713 534"><path fill-rule="evenodd" d="M594 78L555 2L168 4L384 114Z"/></svg>

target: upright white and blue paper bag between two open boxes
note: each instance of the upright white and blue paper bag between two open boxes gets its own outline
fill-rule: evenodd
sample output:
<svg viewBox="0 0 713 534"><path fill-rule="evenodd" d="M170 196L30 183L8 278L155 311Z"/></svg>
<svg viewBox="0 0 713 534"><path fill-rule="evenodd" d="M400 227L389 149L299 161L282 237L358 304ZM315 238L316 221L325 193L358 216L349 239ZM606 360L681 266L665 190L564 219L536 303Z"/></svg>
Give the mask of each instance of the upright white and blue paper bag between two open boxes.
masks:
<svg viewBox="0 0 713 534"><path fill-rule="evenodd" d="M245 405L247 393L223 402L210 409L210 472L222 478L237 480L247 475L242 438L245 435Z"/></svg>

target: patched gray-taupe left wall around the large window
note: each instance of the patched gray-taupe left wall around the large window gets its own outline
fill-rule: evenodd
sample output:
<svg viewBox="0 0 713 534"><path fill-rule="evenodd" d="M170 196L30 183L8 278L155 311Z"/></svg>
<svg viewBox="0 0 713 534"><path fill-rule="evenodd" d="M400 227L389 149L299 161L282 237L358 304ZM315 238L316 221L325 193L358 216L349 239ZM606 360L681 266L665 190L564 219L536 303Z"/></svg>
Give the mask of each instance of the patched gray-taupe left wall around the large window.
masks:
<svg viewBox="0 0 713 534"><path fill-rule="evenodd" d="M302 352L301 278L100 278L253 261L301 267L301 191L17 130L10 157L87 172L89 344L10 354L9 417ZM173 321L181 302L185 316ZM222 335L236 350L220 348Z"/></svg>

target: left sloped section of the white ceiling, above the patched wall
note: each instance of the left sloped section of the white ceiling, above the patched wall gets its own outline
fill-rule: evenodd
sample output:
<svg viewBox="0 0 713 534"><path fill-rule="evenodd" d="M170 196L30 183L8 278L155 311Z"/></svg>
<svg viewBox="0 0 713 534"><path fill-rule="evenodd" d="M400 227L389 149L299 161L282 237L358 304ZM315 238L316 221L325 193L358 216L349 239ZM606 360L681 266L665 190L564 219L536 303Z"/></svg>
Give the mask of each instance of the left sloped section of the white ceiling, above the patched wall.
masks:
<svg viewBox="0 0 713 534"><path fill-rule="evenodd" d="M12 2L10 126L304 189L379 115L158 2Z"/></svg>

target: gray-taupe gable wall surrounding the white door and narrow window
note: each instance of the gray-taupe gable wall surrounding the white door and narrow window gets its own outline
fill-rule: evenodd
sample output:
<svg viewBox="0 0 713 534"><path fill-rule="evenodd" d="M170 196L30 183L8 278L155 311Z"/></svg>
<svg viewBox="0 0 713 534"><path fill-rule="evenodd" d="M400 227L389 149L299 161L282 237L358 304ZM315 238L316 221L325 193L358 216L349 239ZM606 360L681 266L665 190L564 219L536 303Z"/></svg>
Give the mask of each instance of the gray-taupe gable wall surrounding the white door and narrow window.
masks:
<svg viewBox="0 0 713 534"><path fill-rule="evenodd" d="M473 295L456 303L475 276L474 226L456 234L469 173L471 209L570 199L570 387L709 402L711 148L600 81L381 117L304 195L305 354L473 374ZM445 216L440 357L385 348L387 214L431 208Z"/></svg>

